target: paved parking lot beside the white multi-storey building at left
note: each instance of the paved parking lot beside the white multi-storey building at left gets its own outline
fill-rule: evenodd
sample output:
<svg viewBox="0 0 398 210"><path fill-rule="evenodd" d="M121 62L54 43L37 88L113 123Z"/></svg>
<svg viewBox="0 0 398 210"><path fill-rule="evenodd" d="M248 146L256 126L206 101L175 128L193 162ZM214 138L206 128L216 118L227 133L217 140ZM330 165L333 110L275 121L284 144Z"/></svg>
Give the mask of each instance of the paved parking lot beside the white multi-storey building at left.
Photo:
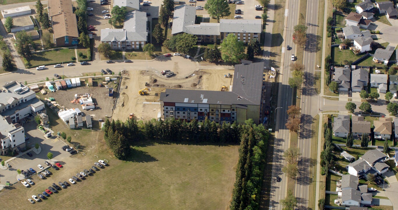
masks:
<svg viewBox="0 0 398 210"><path fill-rule="evenodd" d="M29 157L27 154L23 154L12 161L8 161L8 164L11 165L11 168L7 170L0 170L0 177L2 177L2 181L10 181L10 183L15 183L18 181L16 179L18 173L17 169L24 170L32 168L35 171L39 171L37 165L42 165L46 167L44 161L47 160L47 153L53 153L53 159L51 161L57 160L62 165L66 163L61 160L65 160L66 158L70 157L70 153L63 151L61 148L62 146L66 145L64 142L60 141L59 139L53 137L51 139L45 139L43 137L44 133L36 129L36 125L34 122L29 122L23 124L25 128L25 133L29 139L26 141L29 147L33 148L35 143L39 143L41 147L41 153L36 154L35 152L31 151L32 157ZM35 177L36 175L33 175Z"/></svg>

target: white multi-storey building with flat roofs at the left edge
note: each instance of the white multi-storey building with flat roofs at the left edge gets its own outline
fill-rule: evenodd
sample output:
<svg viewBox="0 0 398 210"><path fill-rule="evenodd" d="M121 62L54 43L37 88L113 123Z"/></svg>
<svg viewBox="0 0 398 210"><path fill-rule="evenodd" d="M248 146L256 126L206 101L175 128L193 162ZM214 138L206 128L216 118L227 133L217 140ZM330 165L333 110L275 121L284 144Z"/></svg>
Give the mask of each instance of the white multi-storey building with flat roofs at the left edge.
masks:
<svg viewBox="0 0 398 210"><path fill-rule="evenodd" d="M17 81L5 84L0 92L0 154L25 147L25 130L18 122L44 110L33 90Z"/></svg>

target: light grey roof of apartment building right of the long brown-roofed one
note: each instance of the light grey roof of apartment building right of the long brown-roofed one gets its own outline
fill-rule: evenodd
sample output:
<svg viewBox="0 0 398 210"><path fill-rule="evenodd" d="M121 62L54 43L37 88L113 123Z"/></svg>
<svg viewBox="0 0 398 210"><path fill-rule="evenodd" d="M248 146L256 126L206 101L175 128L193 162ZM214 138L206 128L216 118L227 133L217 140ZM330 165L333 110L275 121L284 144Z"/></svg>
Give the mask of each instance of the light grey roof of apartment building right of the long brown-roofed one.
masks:
<svg viewBox="0 0 398 210"><path fill-rule="evenodd" d="M123 29L101 29L101 41L146 41L146 12L129 12Z"/></svg>

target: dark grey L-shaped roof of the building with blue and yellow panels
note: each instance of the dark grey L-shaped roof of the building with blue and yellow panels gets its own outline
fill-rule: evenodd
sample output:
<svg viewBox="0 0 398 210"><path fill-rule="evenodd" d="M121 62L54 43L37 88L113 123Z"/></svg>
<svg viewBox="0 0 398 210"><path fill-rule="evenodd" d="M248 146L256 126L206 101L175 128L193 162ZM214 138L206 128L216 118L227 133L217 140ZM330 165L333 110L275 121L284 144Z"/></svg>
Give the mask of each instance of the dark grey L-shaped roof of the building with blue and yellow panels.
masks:
<svg viewBox="0 0 398 210"><path fill-rule="evenodd" d="M188 98L189 103L197 104L260 105L263 69L264 62L235 65L231 92L166 89L166 92L160 93L160 100L183 103Z"/></svg>

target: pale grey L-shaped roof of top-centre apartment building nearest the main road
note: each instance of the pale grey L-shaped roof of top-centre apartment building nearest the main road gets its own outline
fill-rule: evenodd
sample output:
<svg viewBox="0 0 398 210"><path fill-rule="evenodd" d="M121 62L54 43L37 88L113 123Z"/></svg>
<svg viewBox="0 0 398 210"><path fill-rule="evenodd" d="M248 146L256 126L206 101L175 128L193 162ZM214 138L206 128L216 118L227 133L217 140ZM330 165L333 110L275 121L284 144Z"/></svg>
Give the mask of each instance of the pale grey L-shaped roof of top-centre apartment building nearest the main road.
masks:
<svg viewBox="0 0 398 210"><path fill-rule="evenodd" d="M220 23L195 24L196 9L194 6L180 5L174 9L172 34L189 33L193 35L220 35L229 33L261 33L261 20L226 20Z"/></svg>

